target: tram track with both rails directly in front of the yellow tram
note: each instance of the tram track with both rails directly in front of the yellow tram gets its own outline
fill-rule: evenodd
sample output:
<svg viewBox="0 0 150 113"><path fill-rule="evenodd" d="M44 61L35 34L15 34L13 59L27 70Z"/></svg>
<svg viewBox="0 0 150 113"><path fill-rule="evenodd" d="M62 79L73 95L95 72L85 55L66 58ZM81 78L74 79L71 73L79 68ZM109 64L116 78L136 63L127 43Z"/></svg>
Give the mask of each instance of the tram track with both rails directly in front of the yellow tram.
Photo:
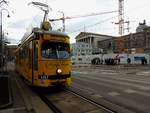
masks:
<svg viewBox="0 0 150 113"><path fill-rule="evenodd" d="M54 113L117 113L69 88L38 95Z"/></svg>

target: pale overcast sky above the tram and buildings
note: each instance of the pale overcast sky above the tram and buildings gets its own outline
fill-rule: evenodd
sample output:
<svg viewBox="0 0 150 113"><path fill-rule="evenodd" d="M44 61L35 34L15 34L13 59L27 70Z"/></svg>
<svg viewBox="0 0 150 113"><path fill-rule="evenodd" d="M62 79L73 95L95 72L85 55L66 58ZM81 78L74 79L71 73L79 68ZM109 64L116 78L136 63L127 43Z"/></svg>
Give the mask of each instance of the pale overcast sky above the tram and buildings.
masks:
<svg viewBox="0 0 150 113"><path fill-rule="evenodd" d="M6 18L7 12L3 11L3 30L8 32L9 39L21 40L29 26L39 26L43 19L43 12L28 5L33 0L9 0L9 7L4 6L10 12L11 17ZM52 11L48 18L60 18L63 11L65 16L87 15L118 10L118 0L34 0L47 3ZM150 0L125 0L124 19L130 22L130 32L135 32L139 22L146 19L150 25ZM84 18L75 18L65 21L66 32L71 37L71 43L75 42L75 36L82 31L100 33L105 35L118 35L118 13L103 14ZM53 22L53 29L62 27L62 22ZM126 28L125 24L125 28ZM127 34L127 30L125 30Z"/></svg>

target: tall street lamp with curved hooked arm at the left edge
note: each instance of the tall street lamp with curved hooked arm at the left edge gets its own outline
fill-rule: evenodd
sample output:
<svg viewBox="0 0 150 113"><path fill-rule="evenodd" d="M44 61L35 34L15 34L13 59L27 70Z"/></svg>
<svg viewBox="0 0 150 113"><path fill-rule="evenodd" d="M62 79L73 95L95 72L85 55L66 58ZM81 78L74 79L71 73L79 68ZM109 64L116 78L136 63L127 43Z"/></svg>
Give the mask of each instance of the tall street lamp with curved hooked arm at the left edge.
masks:
<svg viewBox="0 0 150 113"><path fill-rule="evenodd" d="M2 30L2 12L6 11L8 13L7 17L10 17L9 11L5 8L0 9L0 63L3 63L3 30Z"/></svg>

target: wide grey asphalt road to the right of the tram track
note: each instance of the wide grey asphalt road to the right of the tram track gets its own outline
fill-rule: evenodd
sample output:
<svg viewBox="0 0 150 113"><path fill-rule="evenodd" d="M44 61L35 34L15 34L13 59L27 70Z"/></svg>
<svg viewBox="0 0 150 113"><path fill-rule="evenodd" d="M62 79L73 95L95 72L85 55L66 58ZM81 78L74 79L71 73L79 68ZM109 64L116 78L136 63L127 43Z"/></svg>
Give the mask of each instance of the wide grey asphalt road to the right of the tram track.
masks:
<svg viewBox="0 0 150 113"><path fill-rule="evenodd" d="M150 113L149 67L76 67L72 79L72 88L98 102L105 100L135 113Z"/></svg>

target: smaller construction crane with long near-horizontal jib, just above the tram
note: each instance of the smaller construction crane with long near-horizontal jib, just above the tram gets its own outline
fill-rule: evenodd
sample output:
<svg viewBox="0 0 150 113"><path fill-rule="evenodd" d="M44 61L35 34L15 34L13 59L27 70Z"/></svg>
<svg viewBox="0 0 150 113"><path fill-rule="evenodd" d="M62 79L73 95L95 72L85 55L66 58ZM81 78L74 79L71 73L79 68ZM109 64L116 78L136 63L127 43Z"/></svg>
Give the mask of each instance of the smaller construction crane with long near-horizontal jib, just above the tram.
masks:
<svg viewBox="0 0 150 113"><path fill-rule="evenodd" d="M57 19L49 19L49 21L53 22L53 21L59 21L62 20L62 24L63 24L63 32L65 32L65 20L66 19L75 19L75 18L83 18L83 17L89 17L89 16L96 16L96 15L104 15L104 14L109 14L109 13L115 13L118 11L107 11L107 12L100 12L100 13L90 13L90 14L85 14L85 15L76 15L76 16L72 16L72 17L65 17L64 12L59 11L60 13L62 13L62 18L57 18Z"/></svg>

